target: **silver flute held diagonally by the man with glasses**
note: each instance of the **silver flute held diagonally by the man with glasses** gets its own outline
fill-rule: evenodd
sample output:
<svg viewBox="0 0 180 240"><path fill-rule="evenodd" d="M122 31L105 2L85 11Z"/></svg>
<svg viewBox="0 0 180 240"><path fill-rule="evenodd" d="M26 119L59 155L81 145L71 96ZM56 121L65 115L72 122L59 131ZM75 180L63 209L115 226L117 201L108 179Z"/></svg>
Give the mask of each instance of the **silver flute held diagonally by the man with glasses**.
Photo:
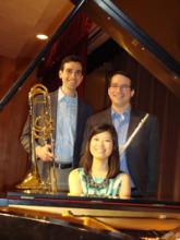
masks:
<svg viewBox="0 0 180 240"><path fill-rule="evenodd" d="M143 119L141 119L140 123L137 124L137 127L134 129L133 133L130 135L130 137L128 139L128 141L125 142L124 145L119 146L119 155L120 157L122 156L123 152L127 149L127 147L130 145L130 143L132 142L132 140L134 139L134 136L136 135L136 133L141 130L141 128L143 127L143 124L147 121L148 118L148 113L146 113L144 116Z"/></svg>

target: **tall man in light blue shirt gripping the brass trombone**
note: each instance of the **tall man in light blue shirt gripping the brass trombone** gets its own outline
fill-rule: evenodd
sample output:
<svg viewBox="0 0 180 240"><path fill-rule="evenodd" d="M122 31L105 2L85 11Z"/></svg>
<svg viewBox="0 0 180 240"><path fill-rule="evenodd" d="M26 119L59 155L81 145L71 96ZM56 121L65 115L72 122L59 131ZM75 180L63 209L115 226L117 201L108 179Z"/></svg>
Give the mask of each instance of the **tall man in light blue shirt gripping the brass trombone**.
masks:
<svg viewBox="0 0 180 240"><path fill-rule="evenodd" d="M84 127L92 115L92 108L76 93L83 81L83 62L80 57L65 57L60 65L59 77L62 86L50 93L55 143L40 144L40 141L36 141L35 154L40 177L45 177L46 163L55 161L58 190L68 191L68 176L79 165ZM29 134L27 120L21 135L21 143L27 152L31 152Z"/></svg>

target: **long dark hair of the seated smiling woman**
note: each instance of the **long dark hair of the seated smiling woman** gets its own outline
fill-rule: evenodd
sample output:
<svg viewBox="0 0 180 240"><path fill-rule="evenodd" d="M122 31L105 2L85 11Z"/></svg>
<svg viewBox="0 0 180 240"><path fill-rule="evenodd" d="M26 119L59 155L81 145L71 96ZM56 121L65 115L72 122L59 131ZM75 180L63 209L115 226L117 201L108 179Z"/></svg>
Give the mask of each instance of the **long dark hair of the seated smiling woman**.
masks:
<svg viewBox="0 0 180 240"><path fill-rule="evenodd" d="M84 172L86 175L89 175L93 164L93 155L91 154L89 151L91 140L94 135L103 132L109 132L112 137L112 153L108 159L109 170L107 178L109 179L109 178L115 178L120 171L118 137L117 137L116 129L111 124L97 124L92 129L80 165L84 168Z"/></svg>

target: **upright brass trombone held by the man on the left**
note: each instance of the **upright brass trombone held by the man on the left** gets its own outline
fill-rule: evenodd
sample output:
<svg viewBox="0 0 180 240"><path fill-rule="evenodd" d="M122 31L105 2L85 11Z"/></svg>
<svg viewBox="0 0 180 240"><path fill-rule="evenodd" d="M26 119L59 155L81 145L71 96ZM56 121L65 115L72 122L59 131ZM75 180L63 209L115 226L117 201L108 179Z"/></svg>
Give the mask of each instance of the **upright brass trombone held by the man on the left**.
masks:
<svg viewBox="0 0 180 240"><path fill-rule="evenodd" d="M53 121L51 118L50 96L43 84L35 84L28 93L29 103L29 127L31 127L31 160L32 170L23 182L16 185L19 190L26 192L58 192L55 158L52 161L41 163L45 168L45 176L39 173L35 147L37 142L40 145L50 144L53 154L55 141L52 137ZM38 115L37 115L38 112ZM55 154L53 154L55 156Z"/></svg>

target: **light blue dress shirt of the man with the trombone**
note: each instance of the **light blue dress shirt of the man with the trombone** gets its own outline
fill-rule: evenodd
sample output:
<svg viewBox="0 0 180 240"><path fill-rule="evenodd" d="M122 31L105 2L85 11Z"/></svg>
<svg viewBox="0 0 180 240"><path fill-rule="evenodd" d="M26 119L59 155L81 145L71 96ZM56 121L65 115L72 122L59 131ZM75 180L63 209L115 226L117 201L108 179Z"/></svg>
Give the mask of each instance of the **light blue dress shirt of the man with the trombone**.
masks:
<svg viewBox="0 0 180 240"><path fill-rule="evenodd" d="M56 161L72 163L76 133L77 97L58 95L57 129L56 129Z"/></svg>

